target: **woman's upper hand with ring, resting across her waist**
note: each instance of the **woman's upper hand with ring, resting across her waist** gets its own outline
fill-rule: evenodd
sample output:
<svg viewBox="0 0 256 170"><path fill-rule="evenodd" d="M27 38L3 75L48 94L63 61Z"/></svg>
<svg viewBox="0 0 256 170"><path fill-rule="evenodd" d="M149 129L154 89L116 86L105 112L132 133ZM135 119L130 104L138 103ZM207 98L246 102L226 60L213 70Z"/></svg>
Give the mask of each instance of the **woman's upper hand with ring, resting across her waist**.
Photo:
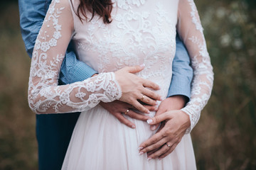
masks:
<svg viewBox="0 0 256 170"><path fill-rule="evenodd" d="M159 85L152 81L135 75L135 73L142 71L142 69L144 69L144 65L124 67L114 72L114 74L122 89L122 96L119 98L119 101L131 104L142 113L149 113L149 109L143 106L142 103L139 103L139 101L150 106L156 106L156 101L160 101L161 96L152 90L159 90L160 88Z"/></svg>

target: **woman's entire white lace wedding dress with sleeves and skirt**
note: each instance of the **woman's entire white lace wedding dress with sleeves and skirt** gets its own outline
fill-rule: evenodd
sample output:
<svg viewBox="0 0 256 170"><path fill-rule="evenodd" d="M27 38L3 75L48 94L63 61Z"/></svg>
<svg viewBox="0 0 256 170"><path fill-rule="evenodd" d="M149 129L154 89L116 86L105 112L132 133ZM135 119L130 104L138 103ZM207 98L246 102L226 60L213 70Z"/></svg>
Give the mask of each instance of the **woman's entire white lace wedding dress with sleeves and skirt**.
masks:
<svg viewBox="0 0 256 170"><path fill-rule="evenodd" d="M203 28L192 0L116 0L112 23L95 16L81 22L75 14L78 0L53 0L36 40L31 62L28 102L36 113L82 111L75 126L63 169L196 169L189 132L196 125L213 86L210 57ZM90 13L87 13L90 18ZM176 49L176 28L185 43L194 71L191 101L182 110L191 120L174 152L147 161L139 145L154 134L149 125L132 120L127 128L97 105L120 98L114 71L145 64L139 77L161 86L166 97ZM75 42L79 59L100 72L97 77L58 86L65 50ZM154 112L150 113L154 116Z"/></svg>

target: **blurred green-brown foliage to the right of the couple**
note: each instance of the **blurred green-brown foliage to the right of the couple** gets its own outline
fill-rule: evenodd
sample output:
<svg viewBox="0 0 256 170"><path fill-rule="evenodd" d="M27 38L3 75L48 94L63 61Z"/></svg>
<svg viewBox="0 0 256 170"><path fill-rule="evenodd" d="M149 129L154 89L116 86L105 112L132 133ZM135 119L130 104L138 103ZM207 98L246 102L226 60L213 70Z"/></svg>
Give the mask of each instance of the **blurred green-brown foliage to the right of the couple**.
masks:
<svg viewBox="0 0 256 170"><path fill-rule="evenodd" d="M215 73L192 132L198 169L256 168L255 1L196 1Z"/></svg>

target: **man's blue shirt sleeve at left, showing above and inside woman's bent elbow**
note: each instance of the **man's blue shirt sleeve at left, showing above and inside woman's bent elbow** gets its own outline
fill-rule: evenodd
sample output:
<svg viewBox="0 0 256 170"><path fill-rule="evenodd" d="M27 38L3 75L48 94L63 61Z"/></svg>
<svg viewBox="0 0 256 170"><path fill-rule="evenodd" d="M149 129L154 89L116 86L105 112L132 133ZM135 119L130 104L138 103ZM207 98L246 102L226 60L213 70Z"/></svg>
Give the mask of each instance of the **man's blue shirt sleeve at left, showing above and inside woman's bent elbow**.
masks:
<svg viewBox="0 0 256 170"><path fill-rule="evenodd" d="M18 0L21 35L29 57L32 57L33 47L50 2L48 0ZM80 62L72 48L69 48L60 69L60 84L83 81L95 73L97 72L94 69Z"/></svg>

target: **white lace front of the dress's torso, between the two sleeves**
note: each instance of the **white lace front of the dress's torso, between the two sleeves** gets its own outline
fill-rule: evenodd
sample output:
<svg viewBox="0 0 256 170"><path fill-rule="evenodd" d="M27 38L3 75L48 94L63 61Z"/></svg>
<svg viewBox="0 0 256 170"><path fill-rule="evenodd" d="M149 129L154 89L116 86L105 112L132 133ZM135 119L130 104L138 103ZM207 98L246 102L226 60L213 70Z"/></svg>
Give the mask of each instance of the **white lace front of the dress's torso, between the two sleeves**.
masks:
<svg viewBox="0 0 256 170"><path fill-rule="evenodd" d="M77 2L73 4L78 5ZM140 6L148 5L147 2ZM157 93L166 97L176 49L176 11L170 14L161 3L154 6L153 10L116 6L112 10L112 23L108 25L97 17L86 24L80 23L74 9L73 41L79 59L97 72L114 72L125 66L145 64L137 75L161 84L162 89ZM167 17L170 15L175 16L174 20Z"/></svg>

